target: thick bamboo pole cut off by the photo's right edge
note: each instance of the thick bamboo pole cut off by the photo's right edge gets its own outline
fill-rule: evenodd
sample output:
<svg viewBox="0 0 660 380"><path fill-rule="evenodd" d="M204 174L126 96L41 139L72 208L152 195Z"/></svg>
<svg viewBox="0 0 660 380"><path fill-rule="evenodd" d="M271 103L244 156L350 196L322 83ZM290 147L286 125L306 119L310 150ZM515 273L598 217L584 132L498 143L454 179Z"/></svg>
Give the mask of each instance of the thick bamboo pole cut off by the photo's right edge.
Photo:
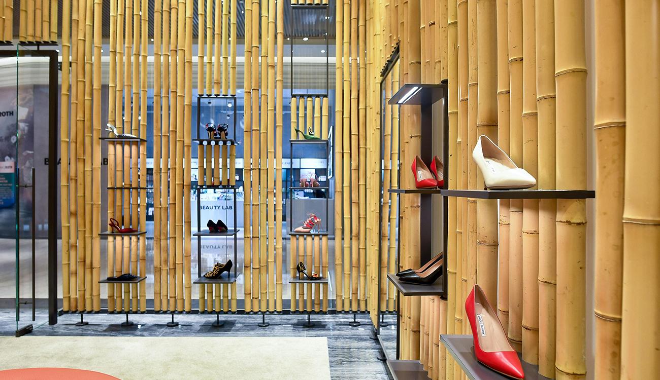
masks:
<svg viewBox="0 0 660 380"><path fill-rule="evenodd" d="M656 339L659 319L657 300L660 298L657 277L660 269L657 256L657 247L660 246L660 197L657 191L648 190L660 182L660 166L657 159L649 160L647 149L660 140L657 128L660 123L657 103L660 95L657 65L660 59L657 49L660 28L657 3L626 1L625 6L628 101L621 378L651 379L657 377L660 371L660 350ZM558 101L559 90L558 84ZM618 97L616 100L622 102L623 99ZM559 234L559 228L557 232Z"/></svg>

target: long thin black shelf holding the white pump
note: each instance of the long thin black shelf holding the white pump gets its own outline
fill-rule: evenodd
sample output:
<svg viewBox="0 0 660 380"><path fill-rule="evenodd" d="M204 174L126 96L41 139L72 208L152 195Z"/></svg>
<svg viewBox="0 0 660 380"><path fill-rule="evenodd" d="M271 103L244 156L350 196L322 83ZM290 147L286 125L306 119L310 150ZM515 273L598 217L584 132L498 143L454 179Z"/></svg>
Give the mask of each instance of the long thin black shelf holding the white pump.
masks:
<svg viewBox="0 0 660 380"><path fill-rule="evenodd" d="M484 200L590 199L594 190L442 190L443 196Z"/></svg>

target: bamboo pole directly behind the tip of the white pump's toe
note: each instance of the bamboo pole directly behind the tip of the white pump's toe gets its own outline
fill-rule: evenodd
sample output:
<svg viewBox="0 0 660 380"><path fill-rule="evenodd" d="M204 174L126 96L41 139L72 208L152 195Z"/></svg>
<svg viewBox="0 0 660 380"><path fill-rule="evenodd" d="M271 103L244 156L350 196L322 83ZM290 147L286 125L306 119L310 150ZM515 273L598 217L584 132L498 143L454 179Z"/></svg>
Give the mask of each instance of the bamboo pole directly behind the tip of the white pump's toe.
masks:
<svg viewBox="0 0 660 380"><path fill-rule="evenodd" d="M523 0L523 166L539 178L535 0ZM523 200L523 360L539 362L539 201Z"/></svg>

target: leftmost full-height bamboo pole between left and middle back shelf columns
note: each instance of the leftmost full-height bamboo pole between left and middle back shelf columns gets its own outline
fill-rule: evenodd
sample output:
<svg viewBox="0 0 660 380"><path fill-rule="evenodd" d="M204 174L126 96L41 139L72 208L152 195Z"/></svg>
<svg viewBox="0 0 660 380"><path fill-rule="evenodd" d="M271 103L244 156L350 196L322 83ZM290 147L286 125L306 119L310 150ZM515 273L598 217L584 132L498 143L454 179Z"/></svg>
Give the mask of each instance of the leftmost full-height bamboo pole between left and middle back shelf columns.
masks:
<svg viewBox="0 0 660 380"><path fill-rule="evenodd" d="M154 2L154 163L153 163L153 181L154 181L154 310L161 308L161 274L160 271L164 270L161 267L162 258L161 254L161 229L162 224L162 204L160 203L161 197L161 165L160 157L162 157L162 96L160 90L162 88L162 1L156 0ZM201 146L201 145L200 145ZM201 162L201 161L200 161ZM201 307L202 303L200 303Z"/></svg>

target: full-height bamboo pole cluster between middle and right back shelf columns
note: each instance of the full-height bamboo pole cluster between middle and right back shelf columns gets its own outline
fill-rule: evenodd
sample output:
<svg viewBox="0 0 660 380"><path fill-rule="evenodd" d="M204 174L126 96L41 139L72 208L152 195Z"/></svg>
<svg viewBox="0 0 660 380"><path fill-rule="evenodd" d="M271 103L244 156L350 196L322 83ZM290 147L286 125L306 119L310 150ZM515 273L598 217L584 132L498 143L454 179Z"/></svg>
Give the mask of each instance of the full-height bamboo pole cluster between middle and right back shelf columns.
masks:
<svg viewBox="0 0 660 380"><path fill-rule="evenodd" d="M284 1L277 1L276 5L275 0L246 0L243 172L246 312L282 311L283 13Z"/></svg>

